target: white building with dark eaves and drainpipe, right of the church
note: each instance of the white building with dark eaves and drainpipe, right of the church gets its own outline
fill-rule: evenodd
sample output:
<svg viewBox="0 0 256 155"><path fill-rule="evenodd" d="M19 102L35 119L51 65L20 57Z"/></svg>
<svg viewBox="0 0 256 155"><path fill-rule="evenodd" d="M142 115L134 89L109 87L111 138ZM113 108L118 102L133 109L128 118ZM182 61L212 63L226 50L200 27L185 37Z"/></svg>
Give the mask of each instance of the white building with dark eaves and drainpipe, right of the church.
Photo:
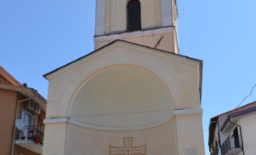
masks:
<svg viewBox="0 0 256 155"><path fill-rule="evenodd" d="M255 154L256 101L212 117L209 150L213 155Z"/></svg>

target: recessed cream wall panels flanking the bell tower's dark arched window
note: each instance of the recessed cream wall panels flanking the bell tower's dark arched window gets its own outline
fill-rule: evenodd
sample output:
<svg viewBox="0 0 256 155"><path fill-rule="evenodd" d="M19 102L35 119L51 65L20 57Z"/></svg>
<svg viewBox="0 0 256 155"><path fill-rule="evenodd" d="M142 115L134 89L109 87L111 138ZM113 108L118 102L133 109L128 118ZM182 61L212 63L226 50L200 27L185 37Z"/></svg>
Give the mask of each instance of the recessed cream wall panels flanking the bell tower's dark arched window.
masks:
<svg viewBox="0 0 256 155"><path fill-rule="evenodd" d="M162 25L161 1L141 0L141 28L157 28ZM127 0L105 0L105 34L126 31Z"/></svg>

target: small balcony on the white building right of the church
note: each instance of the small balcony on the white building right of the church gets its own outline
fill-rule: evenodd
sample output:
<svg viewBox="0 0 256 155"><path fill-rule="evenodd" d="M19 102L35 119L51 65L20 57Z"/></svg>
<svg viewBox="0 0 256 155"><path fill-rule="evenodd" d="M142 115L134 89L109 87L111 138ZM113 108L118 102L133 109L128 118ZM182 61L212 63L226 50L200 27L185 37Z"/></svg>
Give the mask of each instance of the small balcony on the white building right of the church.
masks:
<svg viewBox="0 0 256 155"><path fill-rule="evenodd" d="M241 136L238 138L228 136L221 145L222 155L238 155L242 151Z"/></svg>

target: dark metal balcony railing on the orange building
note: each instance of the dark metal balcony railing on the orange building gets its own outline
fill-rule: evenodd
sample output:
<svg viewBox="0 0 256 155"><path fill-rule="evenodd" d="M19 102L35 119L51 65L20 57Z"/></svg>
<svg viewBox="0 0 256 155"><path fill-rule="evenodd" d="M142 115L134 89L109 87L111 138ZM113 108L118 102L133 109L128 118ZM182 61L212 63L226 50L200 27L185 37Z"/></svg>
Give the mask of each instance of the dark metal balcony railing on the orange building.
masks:
<svg viewBox="0 0 256 155"><path fill-rule="evenodd" d="M23 130L16 130L16 140L33 140L36 143L44 143L44 132L38 130L35 126L26 126Z"/></svg>

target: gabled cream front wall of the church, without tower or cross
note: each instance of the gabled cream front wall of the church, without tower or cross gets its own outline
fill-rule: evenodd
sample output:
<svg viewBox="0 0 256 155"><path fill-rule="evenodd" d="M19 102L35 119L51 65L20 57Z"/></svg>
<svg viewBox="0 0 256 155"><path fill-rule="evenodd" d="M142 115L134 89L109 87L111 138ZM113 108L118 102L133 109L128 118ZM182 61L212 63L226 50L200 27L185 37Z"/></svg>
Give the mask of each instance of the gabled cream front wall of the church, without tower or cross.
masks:
<svg viewBox="0 0 256 155"><path fill-rule="evenodd" d="M115 41L46 75L43 154L111 154L110 147L132 137L132 146L145 145L146 154L196 148L203 155L200 66Z"/></svg>

